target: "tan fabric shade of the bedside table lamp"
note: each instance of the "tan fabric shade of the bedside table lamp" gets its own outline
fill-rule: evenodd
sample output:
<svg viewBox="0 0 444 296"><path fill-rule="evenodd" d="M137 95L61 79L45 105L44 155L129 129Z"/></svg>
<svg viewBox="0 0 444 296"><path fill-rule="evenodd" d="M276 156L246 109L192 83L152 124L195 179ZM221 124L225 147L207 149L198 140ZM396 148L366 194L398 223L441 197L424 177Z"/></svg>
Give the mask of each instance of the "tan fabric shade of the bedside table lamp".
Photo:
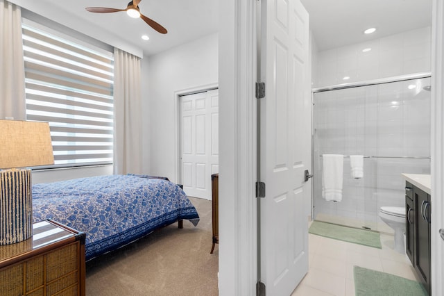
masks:
<svg viewBox="0 0 444 296"><path fill-rule="evenodd" d="M0 169L54 163L47 122L0 120Z"/></svg>

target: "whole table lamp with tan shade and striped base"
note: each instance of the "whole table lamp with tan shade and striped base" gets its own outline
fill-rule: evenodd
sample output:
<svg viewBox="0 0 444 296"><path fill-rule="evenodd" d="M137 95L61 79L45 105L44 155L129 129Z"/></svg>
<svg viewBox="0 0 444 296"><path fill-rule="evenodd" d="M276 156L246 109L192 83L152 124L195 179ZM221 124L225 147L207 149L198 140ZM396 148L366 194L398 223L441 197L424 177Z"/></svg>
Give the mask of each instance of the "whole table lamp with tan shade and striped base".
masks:
<svg viewBox="0 0 444 296"><path fill-rule="evenodd" d="M33 236L31 170L54 163L47 122L0 120L0 245Z"/></svg>

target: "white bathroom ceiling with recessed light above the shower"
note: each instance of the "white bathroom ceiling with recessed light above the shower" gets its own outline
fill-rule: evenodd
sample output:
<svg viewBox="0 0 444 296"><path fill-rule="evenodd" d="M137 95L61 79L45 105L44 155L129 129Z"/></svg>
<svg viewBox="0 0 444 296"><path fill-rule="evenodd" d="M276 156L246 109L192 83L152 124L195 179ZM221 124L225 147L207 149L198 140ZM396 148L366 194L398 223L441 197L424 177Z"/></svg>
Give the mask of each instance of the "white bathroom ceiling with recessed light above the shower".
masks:
<svg viewBox="0 0 444 296"><path fill-rule="evenodd" d="M432 0L301 0L319 51L432 25ZM362 32L375 27L370 35Z"/></svg>

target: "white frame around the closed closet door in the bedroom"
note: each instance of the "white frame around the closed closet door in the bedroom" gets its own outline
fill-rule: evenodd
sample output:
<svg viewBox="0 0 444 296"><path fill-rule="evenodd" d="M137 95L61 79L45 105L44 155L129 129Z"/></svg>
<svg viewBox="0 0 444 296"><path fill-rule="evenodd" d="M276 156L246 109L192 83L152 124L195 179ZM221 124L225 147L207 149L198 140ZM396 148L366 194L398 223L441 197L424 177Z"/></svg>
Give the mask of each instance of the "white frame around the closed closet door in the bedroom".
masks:
<svg viewBox="0 0 444 296"><path fill-rule="evenodd" d="M182 184L182 173L180 170L180 157L182 155L182 148L180 147L180 140L182 133L180 132L182 129L181 122L181 112L180 112L180 97L186 96L187 94L196 94L198 92L206 92L207 90L215 90L219 88L218 83L210 83L206 85L196 86L194 88L185 88L184 90L176 90L174 92L174 135L176 138L176 145L174 147L174 178L176 183Z"/></svg>

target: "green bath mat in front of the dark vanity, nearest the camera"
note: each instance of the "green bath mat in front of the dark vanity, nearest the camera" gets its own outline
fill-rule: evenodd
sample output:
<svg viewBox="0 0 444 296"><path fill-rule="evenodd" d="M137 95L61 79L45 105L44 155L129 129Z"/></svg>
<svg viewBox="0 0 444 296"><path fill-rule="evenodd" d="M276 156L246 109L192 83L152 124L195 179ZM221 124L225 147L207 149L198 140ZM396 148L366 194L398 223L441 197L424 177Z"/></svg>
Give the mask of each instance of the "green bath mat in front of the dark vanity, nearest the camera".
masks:
<svg viewBox="0 0 444 296"><path fill-rule="evenodd" d="M353 268L353 274L356 296L427 296L418 281L359 266Z"/></svg>

